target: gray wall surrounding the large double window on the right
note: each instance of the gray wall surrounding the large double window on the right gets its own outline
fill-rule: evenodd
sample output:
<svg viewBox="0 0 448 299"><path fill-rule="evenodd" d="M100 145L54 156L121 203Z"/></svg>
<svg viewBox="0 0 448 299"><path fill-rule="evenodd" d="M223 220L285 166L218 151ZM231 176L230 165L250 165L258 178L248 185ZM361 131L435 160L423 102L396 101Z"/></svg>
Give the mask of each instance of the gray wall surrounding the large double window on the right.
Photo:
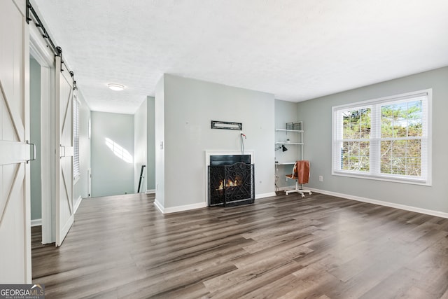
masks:
<svg viewBox="0 0 448 299"><path fill-rule="evenodd" d="M332 106L433 88L433 186L331 175ZM309 186L392 204L448 212L448 67L398 78L297 104L304 121L305 157L311 162ZM323 176L323 182L318 176Z"/></svg>

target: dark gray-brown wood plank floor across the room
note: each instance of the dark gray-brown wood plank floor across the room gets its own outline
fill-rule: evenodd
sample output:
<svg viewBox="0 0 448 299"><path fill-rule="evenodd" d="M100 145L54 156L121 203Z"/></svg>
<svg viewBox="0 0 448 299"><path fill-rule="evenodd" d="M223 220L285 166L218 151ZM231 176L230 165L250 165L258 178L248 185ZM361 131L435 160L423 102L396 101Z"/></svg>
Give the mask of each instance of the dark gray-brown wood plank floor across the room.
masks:
<svg viewBox="0 0 448 299"><path fill-rule="evenodd" d="M60 248L39 233L46 298L448 298L448 219L328 195L167 215L98 197Z"/></svg>

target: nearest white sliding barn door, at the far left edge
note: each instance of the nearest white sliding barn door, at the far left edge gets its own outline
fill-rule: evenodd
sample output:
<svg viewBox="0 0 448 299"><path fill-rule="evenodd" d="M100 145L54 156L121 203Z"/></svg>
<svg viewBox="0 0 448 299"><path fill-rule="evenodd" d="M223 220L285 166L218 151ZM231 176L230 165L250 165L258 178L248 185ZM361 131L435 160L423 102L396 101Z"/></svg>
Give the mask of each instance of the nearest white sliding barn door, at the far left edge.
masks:
<svg viewBox="0 0 448 299"><path fill-rule="evenodd" d="M0 1L0 284L31 283L25 0Z"/></svg>

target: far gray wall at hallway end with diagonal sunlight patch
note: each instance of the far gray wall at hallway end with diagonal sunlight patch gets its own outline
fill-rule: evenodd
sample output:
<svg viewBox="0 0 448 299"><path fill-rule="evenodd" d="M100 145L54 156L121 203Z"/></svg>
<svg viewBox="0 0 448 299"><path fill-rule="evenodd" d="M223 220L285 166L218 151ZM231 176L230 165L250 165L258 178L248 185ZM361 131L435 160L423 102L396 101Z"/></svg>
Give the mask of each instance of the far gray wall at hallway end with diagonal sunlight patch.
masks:
<svg viewBox="0 0 448 299"><path fill-rule="evenodd" d="M134 116L92 111L92 197L134 193ZM132 155L125 162L106 145L111 139Z"/></svg>

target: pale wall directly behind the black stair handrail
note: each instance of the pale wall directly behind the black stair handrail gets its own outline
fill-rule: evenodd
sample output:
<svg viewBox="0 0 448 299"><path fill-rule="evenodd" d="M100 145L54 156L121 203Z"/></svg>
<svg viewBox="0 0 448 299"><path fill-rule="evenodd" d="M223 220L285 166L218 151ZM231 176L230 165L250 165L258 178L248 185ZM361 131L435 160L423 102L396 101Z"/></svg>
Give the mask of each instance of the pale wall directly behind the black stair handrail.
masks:
<svg viewBox="0 0 448 299"><path fill-rule="evenodd" d="M147 102L144 101L134 114L134 193L137 193L139 188L141 165L146 165L147 162L147 110ZM142 179L140 186L140 193L144 193L146 191L146 170L147 169L145 167L144 178Z"/></svg>

